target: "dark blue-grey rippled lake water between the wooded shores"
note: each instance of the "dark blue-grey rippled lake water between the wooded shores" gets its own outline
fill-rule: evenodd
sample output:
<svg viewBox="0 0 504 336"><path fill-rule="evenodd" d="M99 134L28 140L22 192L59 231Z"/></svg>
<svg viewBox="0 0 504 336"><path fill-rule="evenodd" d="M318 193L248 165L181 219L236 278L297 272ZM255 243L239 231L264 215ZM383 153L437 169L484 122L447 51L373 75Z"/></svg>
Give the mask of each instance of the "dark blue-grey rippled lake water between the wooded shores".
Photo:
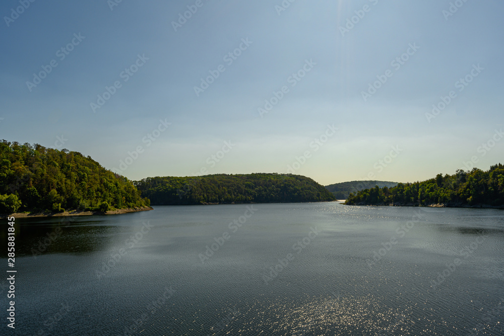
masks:
<svg viewBox="0 0 504 336"><path fill-rule="evenodd" d="M16 220L15 334L504 334L502 211L251 210Z"/></svg>

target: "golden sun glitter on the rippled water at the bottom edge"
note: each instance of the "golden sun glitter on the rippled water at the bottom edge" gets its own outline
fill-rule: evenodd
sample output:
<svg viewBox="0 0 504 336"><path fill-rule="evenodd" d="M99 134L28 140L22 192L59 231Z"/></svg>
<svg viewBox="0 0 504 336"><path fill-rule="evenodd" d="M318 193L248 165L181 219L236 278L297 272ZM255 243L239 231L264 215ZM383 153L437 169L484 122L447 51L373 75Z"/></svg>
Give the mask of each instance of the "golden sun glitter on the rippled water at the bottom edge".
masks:
<svg viewBox="0 0 504 336"><path fill-rule="evenodd" d="M250 312L255 314L243 316L250 325L249 329L242 329L247 334L261 330L278 335L392 334L395 331L407 335L411 334L410 325L414 324L407 311L383 307L371 295L318 298L294 304L258 303L243 315ZM232 325L226 331L239 334L239 329Z"/></svg>

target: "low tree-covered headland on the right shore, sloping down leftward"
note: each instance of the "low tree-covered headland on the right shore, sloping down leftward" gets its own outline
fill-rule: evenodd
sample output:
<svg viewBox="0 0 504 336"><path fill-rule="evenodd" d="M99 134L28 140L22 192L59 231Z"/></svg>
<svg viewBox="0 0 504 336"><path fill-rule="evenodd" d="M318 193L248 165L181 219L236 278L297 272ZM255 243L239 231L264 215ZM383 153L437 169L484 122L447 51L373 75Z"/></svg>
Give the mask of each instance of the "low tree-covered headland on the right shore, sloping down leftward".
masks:
<svg viewBox="0 0 504 336"><path fill-rule="evenodd" d="M374 187L351 194L348 205L407 205L446 207L504 207L504 166L488 171L457 170L423 182L399 183L394 188Z"/></svg>

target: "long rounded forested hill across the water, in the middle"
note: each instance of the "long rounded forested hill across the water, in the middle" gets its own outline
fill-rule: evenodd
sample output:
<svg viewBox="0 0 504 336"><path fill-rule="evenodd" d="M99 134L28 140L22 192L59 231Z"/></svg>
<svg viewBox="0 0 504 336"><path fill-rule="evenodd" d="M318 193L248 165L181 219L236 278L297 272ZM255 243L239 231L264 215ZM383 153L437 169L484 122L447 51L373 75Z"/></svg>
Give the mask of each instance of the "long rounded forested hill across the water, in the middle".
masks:
<svg viewBox="0 0 504 336"><path fill-rule="evenodd" d="M324 186L291 174L149 177L135 185L152 205L288 203L334 200Z"/></svg>

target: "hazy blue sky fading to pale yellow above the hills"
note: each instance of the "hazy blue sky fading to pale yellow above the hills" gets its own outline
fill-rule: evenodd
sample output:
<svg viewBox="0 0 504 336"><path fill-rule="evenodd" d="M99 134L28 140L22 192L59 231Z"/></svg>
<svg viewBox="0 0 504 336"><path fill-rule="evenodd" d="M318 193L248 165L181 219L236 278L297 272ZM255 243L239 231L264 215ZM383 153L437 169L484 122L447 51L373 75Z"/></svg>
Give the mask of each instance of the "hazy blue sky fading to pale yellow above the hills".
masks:
<svg viewBox="0 0 504 336"><path fill-rule="evenodd" d="M504 162L501 1L30 1L0 4L0 139L130 179Z"/></svg>

